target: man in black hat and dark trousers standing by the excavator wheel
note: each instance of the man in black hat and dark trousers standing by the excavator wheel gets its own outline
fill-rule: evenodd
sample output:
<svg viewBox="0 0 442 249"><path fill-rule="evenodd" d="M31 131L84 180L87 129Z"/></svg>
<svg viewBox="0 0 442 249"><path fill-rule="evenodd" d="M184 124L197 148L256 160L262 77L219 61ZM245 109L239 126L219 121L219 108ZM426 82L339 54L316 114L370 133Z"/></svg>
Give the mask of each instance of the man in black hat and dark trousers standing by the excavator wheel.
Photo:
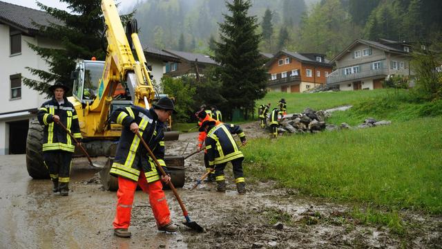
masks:
<svg viewBox="0 0 442 249"><path fill-rule="evenodd" d="M43 130L43 159L52 180L52 192L61 196L69 194L70 163L75 145L70 135L57 123L72 131L77 142L81 142L77 112L65 94L68 86L57 82L49 87L52 99L41 104L37 118Z"/></svg>

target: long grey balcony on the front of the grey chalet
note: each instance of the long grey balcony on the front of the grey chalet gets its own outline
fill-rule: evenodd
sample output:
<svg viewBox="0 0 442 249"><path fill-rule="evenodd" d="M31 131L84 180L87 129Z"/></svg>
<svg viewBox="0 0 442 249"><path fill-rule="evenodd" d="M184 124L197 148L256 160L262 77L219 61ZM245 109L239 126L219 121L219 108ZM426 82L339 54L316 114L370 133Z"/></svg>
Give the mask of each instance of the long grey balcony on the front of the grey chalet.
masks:
<svg viewBox="0 0 442 249"><path fill-rule="evenodd" d="M337 84L340 82L354 82L357 80L363 80L370 77L386 77L388 75L388 68L368 69L358 73L351 73L344 75L344 68L339 68L333 71L327 77L327 84Z"/></svg>

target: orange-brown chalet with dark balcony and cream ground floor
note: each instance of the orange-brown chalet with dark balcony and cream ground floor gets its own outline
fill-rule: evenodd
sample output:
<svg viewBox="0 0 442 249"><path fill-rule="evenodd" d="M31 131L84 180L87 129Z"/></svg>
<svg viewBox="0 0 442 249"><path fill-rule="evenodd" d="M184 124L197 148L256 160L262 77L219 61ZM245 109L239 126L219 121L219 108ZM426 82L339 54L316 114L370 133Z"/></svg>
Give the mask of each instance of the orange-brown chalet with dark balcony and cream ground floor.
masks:
<svg viewBox="0 0 442 249"><path fill-rule="evenodd" d="M266 64L270 91L302 93L326 83L332 64L325 55L281 50Z"/></svg>

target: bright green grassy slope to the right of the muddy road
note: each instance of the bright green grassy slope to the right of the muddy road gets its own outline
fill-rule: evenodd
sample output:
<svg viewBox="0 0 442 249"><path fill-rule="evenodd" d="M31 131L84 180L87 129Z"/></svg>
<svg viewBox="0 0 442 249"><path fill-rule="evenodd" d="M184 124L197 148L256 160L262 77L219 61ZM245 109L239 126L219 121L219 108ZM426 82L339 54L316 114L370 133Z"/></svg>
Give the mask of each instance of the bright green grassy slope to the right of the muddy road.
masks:
<svg viewBox="0 0 442 249"><path fill-rule="evenodd" d="M243 149L247 174L335 201L442 213L442 102L414 102L409 93L392 90L270 93L262 102L276 105L280 98L289 113L352 104L328 122L373 117L392 124L252 140Z"/></svg>

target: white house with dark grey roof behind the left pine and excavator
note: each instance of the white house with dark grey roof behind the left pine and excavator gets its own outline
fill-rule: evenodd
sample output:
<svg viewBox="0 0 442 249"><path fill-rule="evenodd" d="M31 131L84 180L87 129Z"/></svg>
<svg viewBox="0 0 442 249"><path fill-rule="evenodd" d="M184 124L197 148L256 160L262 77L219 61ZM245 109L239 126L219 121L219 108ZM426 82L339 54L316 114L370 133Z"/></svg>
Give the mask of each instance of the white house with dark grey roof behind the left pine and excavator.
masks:
<svg viewBox="0 0 442 249"><path fill-rule="evenodd" d="M26 152L29 120L46 100L46 95L21 81L21 77L39 80L26 67L48 71L48 64L28 43L62 48L58 41L42 36L33 21L41 25L59 23L44 11L0 1L0 155ZM180 62L178 57L150 46L144 46L144 54L157 82L166 63Z"/></svg>

